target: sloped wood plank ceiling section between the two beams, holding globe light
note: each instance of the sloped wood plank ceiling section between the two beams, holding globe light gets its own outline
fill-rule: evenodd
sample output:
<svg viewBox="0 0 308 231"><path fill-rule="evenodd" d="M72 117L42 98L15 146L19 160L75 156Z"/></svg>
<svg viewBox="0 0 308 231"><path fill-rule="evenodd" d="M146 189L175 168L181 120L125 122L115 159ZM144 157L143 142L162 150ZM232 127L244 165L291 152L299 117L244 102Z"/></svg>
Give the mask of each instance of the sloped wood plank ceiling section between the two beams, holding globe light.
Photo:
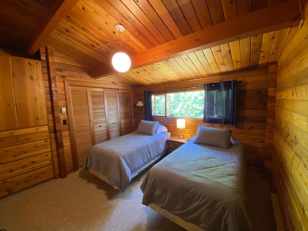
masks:
<svg viewBox="0 0 308 231"><path fill-rule="evenodd" d="M95 68L122 50L133 55L280 0L80 0L45 45ZM257 39L260 43L262 38Z"/></svg>

